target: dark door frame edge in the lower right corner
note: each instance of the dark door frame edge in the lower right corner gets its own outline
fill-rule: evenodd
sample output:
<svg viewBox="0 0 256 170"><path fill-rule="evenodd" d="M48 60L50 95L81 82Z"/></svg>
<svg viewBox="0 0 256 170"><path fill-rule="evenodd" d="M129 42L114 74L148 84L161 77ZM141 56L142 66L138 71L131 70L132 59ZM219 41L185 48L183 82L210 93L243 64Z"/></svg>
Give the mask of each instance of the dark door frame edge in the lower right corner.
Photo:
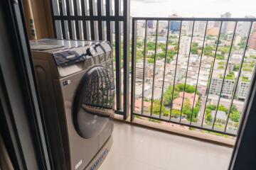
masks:
<svg viewBox="0 0 256 170"><path fill-rule="evenodd" d="M229 169L256 169L256 70L244 106Z"/></svg>

